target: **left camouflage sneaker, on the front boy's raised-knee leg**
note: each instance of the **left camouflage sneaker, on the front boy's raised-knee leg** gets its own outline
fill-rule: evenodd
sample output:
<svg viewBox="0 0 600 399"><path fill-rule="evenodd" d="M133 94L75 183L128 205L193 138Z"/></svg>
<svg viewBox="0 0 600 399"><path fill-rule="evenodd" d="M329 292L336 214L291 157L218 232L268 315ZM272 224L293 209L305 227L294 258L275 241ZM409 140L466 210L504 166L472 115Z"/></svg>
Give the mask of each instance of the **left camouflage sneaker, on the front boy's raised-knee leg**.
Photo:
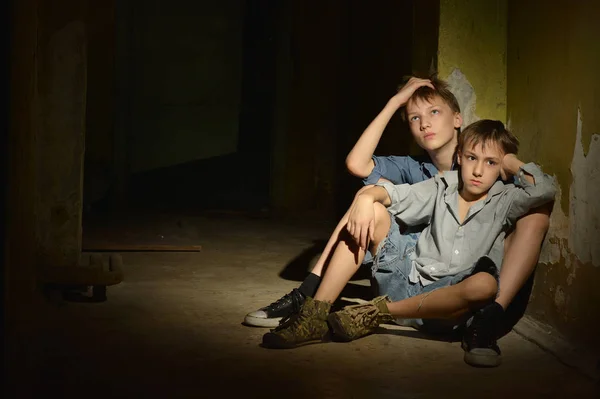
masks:
<svg viewBox="0 0 600 399"><path fill-rule="evenodd" d="M263 335L263 346L288 349L328 340L327 316L330 309L329 302L307 297L300 312L282 320L279 327Z"/></svg>

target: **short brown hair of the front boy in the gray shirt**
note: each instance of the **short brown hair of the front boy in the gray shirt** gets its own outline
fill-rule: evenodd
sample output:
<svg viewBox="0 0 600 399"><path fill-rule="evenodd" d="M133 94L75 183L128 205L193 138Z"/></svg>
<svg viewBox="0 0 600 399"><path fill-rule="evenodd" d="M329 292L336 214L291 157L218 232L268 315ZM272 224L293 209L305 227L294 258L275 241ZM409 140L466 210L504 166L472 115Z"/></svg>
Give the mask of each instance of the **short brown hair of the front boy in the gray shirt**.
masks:
<svg viewBox="0 0 600 399"><path fill-rule="evenodd" d="M505 154L516 154L519 151L519 139L502 122L491 119L482 119L464 128L458 135L456 149L463 151L465 145L476 146L479 143L485 148L490 142L497 144Z"/></svg>

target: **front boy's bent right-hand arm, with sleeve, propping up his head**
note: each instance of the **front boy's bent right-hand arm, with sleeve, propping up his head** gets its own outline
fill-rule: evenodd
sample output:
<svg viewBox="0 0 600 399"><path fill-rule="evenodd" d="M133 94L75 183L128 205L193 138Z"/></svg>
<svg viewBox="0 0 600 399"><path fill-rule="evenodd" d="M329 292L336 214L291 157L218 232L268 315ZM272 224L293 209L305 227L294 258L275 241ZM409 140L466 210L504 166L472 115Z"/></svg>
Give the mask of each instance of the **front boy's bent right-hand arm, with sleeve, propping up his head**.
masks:
<svg viewBox="0 0 600 399"><path fill-rule="evenodd" d="M534 163L525 164L514 154L507 154L502 160L503 172L516 176L517 189L511 198L507 219L514 223L530 209L554 200L556 186L554 178L542 172Z"/></svg>

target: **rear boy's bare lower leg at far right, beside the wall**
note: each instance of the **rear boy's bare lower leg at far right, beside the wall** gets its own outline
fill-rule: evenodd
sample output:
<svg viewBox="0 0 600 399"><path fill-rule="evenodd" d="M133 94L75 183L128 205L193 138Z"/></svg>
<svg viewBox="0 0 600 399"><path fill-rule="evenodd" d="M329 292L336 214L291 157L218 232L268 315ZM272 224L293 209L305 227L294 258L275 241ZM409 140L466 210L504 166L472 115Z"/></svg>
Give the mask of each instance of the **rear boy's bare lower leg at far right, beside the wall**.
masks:
<svg viewBox="0 0 600 399"><path fill-rule="evenodd" d="M515 230L506 239L500 269L500 292L496 298L496 302L504 309L510 305L537 265L550 224L550 206L537 208L520 218Z"/></svg>

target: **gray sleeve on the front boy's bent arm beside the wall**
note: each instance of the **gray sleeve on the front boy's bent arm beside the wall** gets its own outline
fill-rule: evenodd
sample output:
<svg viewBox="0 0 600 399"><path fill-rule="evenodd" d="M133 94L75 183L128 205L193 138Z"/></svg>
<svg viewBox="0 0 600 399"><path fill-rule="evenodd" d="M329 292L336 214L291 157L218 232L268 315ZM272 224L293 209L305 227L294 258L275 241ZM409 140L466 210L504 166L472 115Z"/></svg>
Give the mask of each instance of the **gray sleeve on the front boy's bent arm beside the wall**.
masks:
<svg viewBox="0 0 600 399"><path fill-rule="evenodd" d="M525 173L533 176L534 183L525 178ZM544 205L556 195L556 183L552 176L542 172L534 163L522 165L515 176L514 196L508 209L507 219L514 223L530 209Z"/></svg>

